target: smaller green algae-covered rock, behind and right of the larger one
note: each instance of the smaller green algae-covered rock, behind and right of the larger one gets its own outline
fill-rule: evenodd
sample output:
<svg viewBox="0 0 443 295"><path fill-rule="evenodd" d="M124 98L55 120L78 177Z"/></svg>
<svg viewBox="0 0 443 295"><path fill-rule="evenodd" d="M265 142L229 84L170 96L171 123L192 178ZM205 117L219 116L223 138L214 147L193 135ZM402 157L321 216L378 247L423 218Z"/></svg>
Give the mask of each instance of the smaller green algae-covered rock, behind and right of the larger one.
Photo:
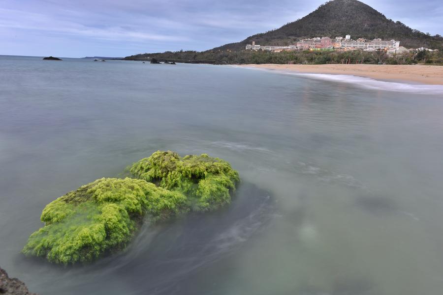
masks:
<svg viewBox="0 0 443 295"><path fill-rule="evenodd" d="M193 211L212 211L230 203L239 181L227 161L206 154L181 158L171 151L157 151L132 164L129 171L136 178L187 195Z"/></svg>

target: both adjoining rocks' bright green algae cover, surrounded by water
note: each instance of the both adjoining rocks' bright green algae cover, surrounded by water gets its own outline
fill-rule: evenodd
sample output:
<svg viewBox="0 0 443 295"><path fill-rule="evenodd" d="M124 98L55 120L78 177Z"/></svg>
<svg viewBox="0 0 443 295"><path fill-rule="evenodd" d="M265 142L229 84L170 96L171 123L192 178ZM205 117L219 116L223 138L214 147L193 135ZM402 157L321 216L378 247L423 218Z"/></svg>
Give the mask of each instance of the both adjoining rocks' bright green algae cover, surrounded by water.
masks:
<svg viewBox="0 0 443 295"><path fill-rule="evenodd" d="M124 249L142 219L169 219L230 203L239 181L228 162L206 154L155 152L129 168L134 178L101 178L49 203L45 224L22 252L59 264L86 263Z"/></svg>

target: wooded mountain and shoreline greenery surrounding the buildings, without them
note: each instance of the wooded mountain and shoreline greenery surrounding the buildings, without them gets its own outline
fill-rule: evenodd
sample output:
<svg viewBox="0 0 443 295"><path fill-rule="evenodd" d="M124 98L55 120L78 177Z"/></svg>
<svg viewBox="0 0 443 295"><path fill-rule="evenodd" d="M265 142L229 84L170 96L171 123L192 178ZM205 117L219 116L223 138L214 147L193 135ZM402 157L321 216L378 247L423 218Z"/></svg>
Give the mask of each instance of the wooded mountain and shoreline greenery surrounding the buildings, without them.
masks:
<svg viewBox="0 0 443 295"><path fill-rule="evenodd" d="M395 39L407 48L427 47L439 49L440 52L411 52L402 56L377 56L369 52L251 52L245 50L246 44L253 41L257 45L289 45L299 39L351 35L372 40L381 38ZM151 58L160 61L176 61L212 64L244 64L244 63L340 63L348 60L352 63L391 64L443 63L443 37L431 36L411 29L400 22L387 19L383 14L369 5L357 0L333 0L326 2L302 19L286 24L276 30L260 33L237 43L226 44L203 52L180 51L151 54L135 54L125 57L127 60L149 61Z"/></svg>

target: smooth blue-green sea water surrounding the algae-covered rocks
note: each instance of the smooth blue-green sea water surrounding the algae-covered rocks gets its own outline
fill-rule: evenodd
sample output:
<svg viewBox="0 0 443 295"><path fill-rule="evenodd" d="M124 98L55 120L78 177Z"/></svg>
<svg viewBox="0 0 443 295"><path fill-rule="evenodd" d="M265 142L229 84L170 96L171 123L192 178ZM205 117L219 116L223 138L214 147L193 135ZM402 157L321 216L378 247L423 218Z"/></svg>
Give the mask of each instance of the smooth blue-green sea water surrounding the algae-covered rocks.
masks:
<svg viewBox="0 0 443 295"><path fill-rule="evenodd" d="M32 292L442 293L440 86L63 59L0 56L0 266ZM230 161L232 204L89 266L20 253L47 203L157 150Z"/></svg>

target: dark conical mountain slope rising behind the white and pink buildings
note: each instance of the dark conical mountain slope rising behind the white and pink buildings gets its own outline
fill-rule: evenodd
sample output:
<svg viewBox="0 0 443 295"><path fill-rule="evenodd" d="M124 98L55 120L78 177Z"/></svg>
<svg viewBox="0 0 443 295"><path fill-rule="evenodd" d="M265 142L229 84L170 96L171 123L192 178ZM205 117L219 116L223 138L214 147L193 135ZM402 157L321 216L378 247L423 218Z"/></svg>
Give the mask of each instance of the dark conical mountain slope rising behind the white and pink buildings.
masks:
<svg viewBox="0 0 443 295"><path fill-rule="evenodd" d="M299 39L351 35L351 38L395 39L405 47L442 49L443 38L411 29L387 19L371 6L357 0L333 0L320 5L307 16L278 29L260 33L237 43L213 50L242 50L255 41L259 45L288 45Z"/></svg>

